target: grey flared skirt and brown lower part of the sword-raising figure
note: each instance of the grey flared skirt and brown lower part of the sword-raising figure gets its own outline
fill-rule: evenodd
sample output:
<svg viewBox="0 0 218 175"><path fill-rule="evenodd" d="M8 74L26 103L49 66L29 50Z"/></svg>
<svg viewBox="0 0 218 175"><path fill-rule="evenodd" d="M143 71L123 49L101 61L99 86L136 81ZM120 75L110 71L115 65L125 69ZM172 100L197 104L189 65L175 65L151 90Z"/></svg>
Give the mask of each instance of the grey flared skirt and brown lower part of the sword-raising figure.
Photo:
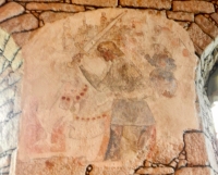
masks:
<svg viewBox="0 0 218 175"><path fill-rule="evenodd" d="M110 140L105 159L124 160L145 149L155 125L152 111L144 100L117 99L112 104Z"/></svg>

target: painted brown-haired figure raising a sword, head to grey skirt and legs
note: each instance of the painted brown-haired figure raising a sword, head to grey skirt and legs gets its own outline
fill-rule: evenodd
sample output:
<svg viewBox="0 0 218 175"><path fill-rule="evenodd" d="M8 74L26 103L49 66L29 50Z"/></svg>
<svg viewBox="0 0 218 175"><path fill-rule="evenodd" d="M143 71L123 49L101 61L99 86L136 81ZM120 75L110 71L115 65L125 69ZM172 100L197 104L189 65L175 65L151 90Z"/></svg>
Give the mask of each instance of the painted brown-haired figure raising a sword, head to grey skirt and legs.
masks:
<svg viewBox="0 0 218 175"><path fill-rule="evenodd" d="M116 95L105 160L124 160L144 149L147 138L152 135L150 128L155 128L155 120L145 100L123 96L143 88L144 78L141 71L124 58L124 53L112 41L100 42L97 50L109 64L108 68L100 76L89 73L83 66L80 68L95 89L109 90Z"/></svg>

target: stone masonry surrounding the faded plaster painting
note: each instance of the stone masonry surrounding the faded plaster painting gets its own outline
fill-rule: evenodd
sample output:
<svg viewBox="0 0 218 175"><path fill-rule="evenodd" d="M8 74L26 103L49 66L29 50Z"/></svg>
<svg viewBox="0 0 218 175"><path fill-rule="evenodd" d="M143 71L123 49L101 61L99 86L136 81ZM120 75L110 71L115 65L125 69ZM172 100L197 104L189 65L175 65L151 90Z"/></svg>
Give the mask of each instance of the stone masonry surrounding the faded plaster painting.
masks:
<svg viewBox="0 0 218 175"><path fill-rule="evenodd" d="M0 45L3 46L3 48L0 48L2 50L1 52L5 53L3 54L3 61L1 63L1 78L7 77L2 78L1 83L1 92L5 96L5 101L2 101L1 107L5 104L10 105L10 102L12 102L9 111L2 110L7 113L7 117L0 118L0 124L2 125L0 128L9 124L10 127L4 128L13 130L13 133L11 130L3 130L3 134L0 135L2 136L0 142L4 142L4 147L0 147L0 174L12 175L14 172L13 165L10 166L10 164L16 154L16 134L19 126L15 120L17 120L21 113L21 110L15 107L16 102L13 102L14 99L19 100L17 97L14 97L16 93L16 89L14 88L16 88L19 79L22 76L22 73L19 71L22 65L20 48L37 33L38 28L47 23L73 16L75 13L94 11L101 8L146 10L150 14L164 15L169 20L175 21L190 34L196 54L201 59L196 74L196 89L198 95L196 107L199 107L198 112L202 128L199 130L184 130L184 147L178 157L172 158L171 162L166 164L145 160L142 166L135 170L135 174L217 174L217 142L209 111L210 104L204 90L209 71L218 58L216 48L218 45L216 38L218 35L218 2L209 0L108 0L106 2L104 0L0 0L0 28L11 34L10 36L5 34L0 35L0 42L2 40L2 43L5 43ZM5 36L5 38L2 39L1 36ZM17 46L10 38L13 38ZM5 46L11 47L10 51L14 49L13 55L10 55L11 53L7 54L7 51L4 51L7 50ZM14 74L15 72L16 74ZM11 89L13 90L10 91ZM11 145L10 140L13 140L11 142L14 145ZM199 152L202 159L198 158ZM210 153L207 155L206 152ZM87 172L89 171L87 170Z"/></svg>

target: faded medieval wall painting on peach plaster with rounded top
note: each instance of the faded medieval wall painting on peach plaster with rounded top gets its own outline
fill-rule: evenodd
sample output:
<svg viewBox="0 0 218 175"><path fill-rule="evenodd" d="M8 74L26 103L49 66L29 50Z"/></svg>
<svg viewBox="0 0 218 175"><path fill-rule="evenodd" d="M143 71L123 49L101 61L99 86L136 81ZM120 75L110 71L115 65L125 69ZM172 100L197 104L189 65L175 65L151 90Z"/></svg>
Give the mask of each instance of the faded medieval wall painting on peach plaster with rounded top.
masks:
<svg viewBox="0 0 218 175"><path fill-rule="evenodd" d="M183 130L198 127L193 51L179 25L147 11L99 10L43 27L23 48L17 174L62 174L60 160L64 174L169 163Z"/></svg>

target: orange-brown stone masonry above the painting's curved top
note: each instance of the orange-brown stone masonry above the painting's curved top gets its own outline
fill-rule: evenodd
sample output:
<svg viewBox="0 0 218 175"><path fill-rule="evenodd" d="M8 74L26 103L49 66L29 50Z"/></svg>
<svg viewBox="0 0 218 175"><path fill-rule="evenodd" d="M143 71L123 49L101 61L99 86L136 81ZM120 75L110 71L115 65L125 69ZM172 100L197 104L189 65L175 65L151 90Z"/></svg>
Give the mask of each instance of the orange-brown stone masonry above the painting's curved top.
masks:
<svg viewBox="0 0 218 175"><path fill-rule="evenodd" d="M12 34L22 46L46 23L99 8L131 8L161 13L189 32L198 55L216 40L218 34L216 0L1 0L0 27Z"/></svg>

